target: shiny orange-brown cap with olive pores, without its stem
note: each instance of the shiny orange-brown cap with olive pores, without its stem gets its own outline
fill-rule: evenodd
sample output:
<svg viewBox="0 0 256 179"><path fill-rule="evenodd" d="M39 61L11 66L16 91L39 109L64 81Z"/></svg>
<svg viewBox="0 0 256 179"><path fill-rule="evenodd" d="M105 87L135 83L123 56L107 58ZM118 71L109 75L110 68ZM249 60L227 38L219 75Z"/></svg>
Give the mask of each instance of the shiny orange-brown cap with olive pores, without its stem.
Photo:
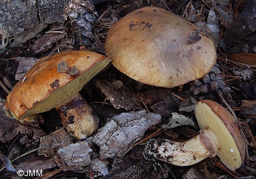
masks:
<svg viewBox="0 0 256 179"><path fill-rule="evenodd" d="M6 108L16 119L31 121L33 114L48 111L80 91L109 61L85 50L41 58L7 96Z"/></svg>

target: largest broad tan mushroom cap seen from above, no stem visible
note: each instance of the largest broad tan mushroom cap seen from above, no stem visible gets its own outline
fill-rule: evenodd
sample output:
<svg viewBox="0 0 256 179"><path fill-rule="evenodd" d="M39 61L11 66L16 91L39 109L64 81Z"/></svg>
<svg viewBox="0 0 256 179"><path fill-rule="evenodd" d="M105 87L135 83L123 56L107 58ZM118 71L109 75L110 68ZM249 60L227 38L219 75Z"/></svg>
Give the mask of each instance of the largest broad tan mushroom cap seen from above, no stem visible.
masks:
<svg viewBox="0 0 256 179"><path fill-rule="evenodd" d="M203 77L216 61L212 40L195 25L156 7L116 22L105 42L112 64L149 85L174 87Z"/></svg>

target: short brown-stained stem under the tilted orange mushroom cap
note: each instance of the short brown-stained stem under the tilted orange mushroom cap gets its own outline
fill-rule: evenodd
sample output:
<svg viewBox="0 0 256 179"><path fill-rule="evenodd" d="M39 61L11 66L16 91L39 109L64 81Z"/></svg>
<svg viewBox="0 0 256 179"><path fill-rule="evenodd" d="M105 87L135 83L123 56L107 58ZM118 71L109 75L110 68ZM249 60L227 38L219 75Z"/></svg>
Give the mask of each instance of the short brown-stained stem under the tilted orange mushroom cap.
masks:
<svg viewBox="0 0 256 179"><path fill-rule="evenodd" d="M98 128L98 118L91 114L93 109L79 93L56 106L56 109L64 128L78 140L85 139Z"/></svg>

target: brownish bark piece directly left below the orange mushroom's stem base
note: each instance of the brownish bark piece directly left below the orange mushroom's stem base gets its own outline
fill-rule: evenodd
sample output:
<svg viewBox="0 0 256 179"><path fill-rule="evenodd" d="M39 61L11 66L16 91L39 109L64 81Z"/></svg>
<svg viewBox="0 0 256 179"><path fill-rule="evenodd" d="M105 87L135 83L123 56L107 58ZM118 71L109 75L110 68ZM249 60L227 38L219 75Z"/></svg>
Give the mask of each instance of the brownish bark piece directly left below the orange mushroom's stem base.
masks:
<svg viewBox="0 0 256 179"><path fill-rule="evenodd" d="M38 149L39 155L46 157L53 156L60 148L64 148L73 143L72 137L64 131L63 128L51 133L50 135L41 137L40 148Z"/></svg>

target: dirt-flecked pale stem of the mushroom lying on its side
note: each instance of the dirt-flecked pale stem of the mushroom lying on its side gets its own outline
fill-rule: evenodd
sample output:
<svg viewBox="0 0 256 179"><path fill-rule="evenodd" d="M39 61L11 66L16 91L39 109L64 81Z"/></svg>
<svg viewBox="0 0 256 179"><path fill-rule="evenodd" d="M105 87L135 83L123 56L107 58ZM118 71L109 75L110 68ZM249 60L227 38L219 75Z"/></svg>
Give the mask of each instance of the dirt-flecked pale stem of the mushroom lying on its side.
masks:
<svg viewBox="0 0 256 179"><path fill-rule="evenodd" d="M210 131L210 130L209 130ZM210 131L209 133L212 133ZM199 134L185 142L173 142L166 139L151 139L145 149L145 157L154 157L176 166L196 164L207 157L214 157L218 152L218 139L213 133L212 139L208 130L202 129Z"/></svg>

